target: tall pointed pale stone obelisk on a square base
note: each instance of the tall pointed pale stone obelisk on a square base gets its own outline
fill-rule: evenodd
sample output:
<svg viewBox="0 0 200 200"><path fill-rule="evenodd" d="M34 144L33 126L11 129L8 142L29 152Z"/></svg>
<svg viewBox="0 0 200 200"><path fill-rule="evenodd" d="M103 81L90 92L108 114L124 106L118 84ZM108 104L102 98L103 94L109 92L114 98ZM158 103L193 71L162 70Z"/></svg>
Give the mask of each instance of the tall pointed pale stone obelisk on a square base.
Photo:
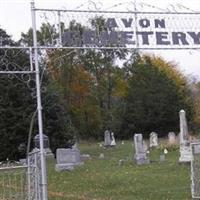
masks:
<svg viewBox="0 0 200 200"><path fill-rule="evenodd" d="M191 162L192 152L190 149L190 142L188 137L188 127L185 116L185 111L181 110L179 112L180 117L180 163Z"/></svg>

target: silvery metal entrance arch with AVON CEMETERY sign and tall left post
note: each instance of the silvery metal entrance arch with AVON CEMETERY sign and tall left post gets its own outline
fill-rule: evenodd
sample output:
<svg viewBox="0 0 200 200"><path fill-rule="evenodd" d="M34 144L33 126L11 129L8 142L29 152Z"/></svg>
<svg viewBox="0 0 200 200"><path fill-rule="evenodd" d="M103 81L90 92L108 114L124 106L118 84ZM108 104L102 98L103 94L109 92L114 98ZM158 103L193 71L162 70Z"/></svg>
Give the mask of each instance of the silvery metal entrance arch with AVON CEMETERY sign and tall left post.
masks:
<svg viewBox="0 0 200 200"><path fill-rule="evenodd" d="M30 51L30 70L2 70L0 73L34 73L36 80L38 125L40 134L41 194L47 199L46 164L43 150L43 126L40 95L40 56L51 51L68 49L65 56L77 50L199 50L200 13L103 11L98 6L85 10L40 9L31 3L33 46L1 46L1 49ZM44 25L40 40L37 29ZM39 56L40 52L40 56ZM196 169L196 168L195 168ZM200 179L200 177L199 177ZM195 196L195 194L193 194Z"/></svg>

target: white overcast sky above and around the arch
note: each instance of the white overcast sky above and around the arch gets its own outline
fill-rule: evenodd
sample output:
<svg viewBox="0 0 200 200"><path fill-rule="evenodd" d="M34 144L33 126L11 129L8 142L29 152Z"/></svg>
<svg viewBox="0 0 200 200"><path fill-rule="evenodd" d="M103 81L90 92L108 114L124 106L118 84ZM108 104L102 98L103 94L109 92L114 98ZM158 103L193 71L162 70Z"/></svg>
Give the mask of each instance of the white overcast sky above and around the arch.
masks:
<svg viewBox="0 0 200 200"><path fill-rule="evenodd" d="M96 2L96 4L92 2ZM134 10L133 2L134 0L35 0L37 8L94 9L96 6L108 9L113 5L118 5L113 10L126 10L127 8ZM152 11L154 7L173 10L172 5L178 11L187 11L187 8L200 11L200 0L137 0L137 3L138 8L145 11ZM180 4L187 8L183 8ZM155 10L158 11L158 9ZM26 32L30 26L30 0L0 0L0 28L5 29L14 40L18 40L21 32ZM167 61L174 61L185 74L192 74L200 79L200 51L168 50L165 52L154 51L153 53L161 55Z"/></svg>

